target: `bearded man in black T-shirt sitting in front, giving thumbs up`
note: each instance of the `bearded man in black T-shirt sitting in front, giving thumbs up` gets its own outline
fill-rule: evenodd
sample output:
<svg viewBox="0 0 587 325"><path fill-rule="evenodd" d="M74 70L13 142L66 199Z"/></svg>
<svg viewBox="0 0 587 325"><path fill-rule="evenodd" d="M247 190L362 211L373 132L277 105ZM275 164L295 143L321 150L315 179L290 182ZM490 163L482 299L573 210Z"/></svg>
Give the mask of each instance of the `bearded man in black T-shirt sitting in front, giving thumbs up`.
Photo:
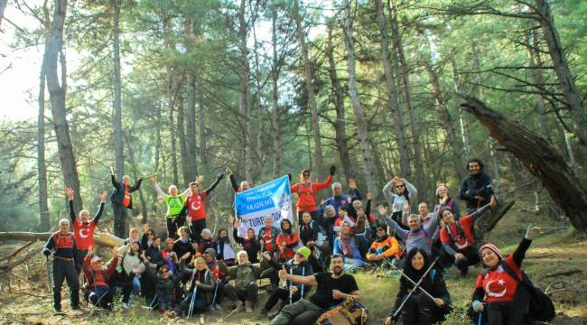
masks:
<svg viewBox="0 0 587 325"><path fill-rule="evenodd" d="M272 324L312 324L322 313L344 302L352 296L360 299L359 286L350 274L344 274L344 257L339 254L331 256L332 272L322 272L310 276L287 274L282 268L279 277L293 283L316 285L316 292L308 300L300 300L284 309L271 322Z"/></svg>

